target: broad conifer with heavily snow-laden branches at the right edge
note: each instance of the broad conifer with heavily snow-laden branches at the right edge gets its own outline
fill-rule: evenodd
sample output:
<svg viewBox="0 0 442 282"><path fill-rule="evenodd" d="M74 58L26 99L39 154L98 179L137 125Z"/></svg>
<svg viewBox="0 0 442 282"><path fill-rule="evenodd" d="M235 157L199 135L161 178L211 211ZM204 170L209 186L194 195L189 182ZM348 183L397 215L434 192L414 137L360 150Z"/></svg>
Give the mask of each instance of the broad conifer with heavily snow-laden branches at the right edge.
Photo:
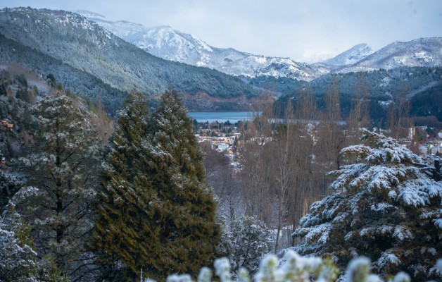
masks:
<svg viewBox="0 0 442 282"><path fill-rule="evenodd" d="M293 235L304 240L294 249L331 256L341 269L365 256L384 276L405 271L416 281L441 279L436 260L442 254L442 183L427 176L429 165L404 145L362 133L372 146L342 150L360 163L332 172L334 192L301 219Z"/></svg>

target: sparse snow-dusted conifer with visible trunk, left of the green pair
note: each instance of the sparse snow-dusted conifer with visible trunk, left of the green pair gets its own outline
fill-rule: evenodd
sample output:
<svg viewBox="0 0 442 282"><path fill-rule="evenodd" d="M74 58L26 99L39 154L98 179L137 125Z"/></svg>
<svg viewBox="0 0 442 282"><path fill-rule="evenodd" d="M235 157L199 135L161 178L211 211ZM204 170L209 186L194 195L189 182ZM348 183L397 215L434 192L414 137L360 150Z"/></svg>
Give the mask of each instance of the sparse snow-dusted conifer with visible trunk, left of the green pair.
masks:
<svg viewBox="0 0 442 282"><path fill-rule="evenodd" d="M75 278L87 263L84 242L94 223L97 140L87 110L72 97L45 97L32 114L34 142L20 171L26 183L13 202L30 222L39 255L52 255Z"/></svg>

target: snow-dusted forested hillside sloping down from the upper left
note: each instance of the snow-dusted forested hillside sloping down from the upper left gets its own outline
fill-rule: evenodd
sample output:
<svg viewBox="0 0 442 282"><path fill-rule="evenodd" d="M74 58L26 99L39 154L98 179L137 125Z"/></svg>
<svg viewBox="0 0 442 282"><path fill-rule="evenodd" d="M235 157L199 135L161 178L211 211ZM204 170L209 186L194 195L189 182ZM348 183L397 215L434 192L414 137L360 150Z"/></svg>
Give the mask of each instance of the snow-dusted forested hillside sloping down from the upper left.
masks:
<svg viewBox="0 0 442 282"><path fill-rule="evenodd" d="M189 108L198 109L199 97L192 95L203 92L214 98L212 103L203 104L203 109L216 109L218 104L222 105L230 98L241 97L247 101L258 94L239 78L208 68L197 68L151 56L75 13L4 8L0 11L0 34L12 39L15 44L37 51L37 54L27 51L28 56L31 56L27 59L27 67L34 71L39 71L39 65L34 63L41 63L42 60L32 57L44 54L55 59L52 60L53 63L58 61L58 65L63 63L89 73L113 89L122 92L136 89L150 99L173 87L179 94L189 94ZM13 57L11 53L14 52L14 47L11 44L13 43L9 42L4 46L4 52L10 54L6 58ZM45 64L47 66L47 63ZM53 74L57 78L63 77L58 78L62 83L69 83L68 80L62 80L65 79L65 73L58 75L54 71ZM76 75L77 72L71 74ZM80 78L72 80L82 81ZM72 87L72 91L80 92L80 89ZM121 99L118 102L121 102Z"/></svg>

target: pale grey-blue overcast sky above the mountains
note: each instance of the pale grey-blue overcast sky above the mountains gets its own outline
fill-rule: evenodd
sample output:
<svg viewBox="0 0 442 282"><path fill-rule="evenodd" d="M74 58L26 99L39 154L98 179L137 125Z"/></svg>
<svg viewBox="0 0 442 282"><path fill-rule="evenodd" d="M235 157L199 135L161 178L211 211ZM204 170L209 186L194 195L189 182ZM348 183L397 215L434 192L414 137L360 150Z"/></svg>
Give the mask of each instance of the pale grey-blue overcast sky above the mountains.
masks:
<svg viewBox="0 0 442 282"><path fill-rule="evenodd" d="M442 37L442 0L1 0L3 7L87 10L170 25L213 47L312 63L367 43Z"/></svg>

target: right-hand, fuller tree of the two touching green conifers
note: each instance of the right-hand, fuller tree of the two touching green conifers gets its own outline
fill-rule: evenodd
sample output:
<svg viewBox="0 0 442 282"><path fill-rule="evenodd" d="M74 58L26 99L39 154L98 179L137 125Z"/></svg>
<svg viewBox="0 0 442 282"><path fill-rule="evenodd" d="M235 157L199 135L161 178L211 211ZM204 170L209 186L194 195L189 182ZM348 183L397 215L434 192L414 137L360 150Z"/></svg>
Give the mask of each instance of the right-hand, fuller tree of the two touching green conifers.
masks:
<svg viewBox="0 0 442 282"><path fill-rule="evenodd" d="M139 183L151 178L156 188L151 208L160 237L155 262L160 278L172 273L196 276L199 267L210 265L220 236L204 154L192 128L177 92L165 92L151 117L151 147L143 166L149 171L137 178Z"/></svg>

